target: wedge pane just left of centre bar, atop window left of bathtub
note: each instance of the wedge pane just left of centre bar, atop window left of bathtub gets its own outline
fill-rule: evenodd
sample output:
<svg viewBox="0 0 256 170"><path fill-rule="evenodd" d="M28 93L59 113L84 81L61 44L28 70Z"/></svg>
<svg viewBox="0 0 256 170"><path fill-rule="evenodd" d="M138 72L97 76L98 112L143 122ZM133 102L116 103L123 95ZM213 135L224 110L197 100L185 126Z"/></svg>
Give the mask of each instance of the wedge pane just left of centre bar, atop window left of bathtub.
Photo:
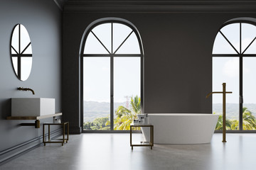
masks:
<svg viewBox="0 0 256 170"><path fill-rule="evenodd" d="M111 52L111 23L103 23L92 29L97 38L107 47L107 50Z"/></svg>

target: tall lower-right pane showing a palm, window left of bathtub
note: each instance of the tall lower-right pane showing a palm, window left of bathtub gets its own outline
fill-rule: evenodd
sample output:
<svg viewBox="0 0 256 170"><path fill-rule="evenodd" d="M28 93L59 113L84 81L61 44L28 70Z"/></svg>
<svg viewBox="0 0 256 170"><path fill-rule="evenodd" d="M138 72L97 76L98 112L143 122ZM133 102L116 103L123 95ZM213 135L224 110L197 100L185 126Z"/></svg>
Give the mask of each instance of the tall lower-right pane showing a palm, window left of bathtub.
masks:
<svg viewBox="0 0 256 170"><path fill-rule="evenodd" d="M114 130L129 130L141 113L140 57L114 57Z"/></svg>

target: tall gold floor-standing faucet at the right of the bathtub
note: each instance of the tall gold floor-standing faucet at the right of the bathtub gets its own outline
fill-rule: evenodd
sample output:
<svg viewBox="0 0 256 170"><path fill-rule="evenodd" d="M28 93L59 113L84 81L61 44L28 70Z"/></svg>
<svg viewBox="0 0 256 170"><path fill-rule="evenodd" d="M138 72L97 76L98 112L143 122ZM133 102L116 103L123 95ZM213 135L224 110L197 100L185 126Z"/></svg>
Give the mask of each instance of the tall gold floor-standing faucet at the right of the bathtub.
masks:
<svg viewBox="0 0 256 170"><path fill-rule="evenodd" d="M227 142L225 140L225 94L232 94L232 91L225 91L225 83L223 83L223 91L213 91L206 96L208 98L211 94L223 94L223 142Z"/></svg>

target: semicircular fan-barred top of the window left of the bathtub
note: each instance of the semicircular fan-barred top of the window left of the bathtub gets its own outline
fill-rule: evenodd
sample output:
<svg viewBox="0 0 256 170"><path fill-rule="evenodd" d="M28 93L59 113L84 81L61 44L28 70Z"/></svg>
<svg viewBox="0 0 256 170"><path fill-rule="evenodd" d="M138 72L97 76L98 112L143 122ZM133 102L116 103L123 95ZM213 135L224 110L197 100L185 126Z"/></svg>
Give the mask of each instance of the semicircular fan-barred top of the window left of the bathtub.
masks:
<svg viewBox="0 0 256 170"><path fill-rule="evenodd" d="M142 55L137 29L123 19L105 18L85 30L83 55Z"/></svg>

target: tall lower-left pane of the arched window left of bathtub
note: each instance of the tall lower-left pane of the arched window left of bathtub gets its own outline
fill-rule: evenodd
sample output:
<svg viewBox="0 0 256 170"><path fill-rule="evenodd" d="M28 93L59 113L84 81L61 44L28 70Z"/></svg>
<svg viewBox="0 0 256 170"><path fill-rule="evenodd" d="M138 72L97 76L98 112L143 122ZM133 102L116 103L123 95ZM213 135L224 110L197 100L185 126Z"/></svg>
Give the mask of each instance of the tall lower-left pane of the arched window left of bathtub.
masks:
<svg viewBox="0 0 256 170"><path fill-rule="evenodd" d="M84 57L83 102L83 129L110 130L110 57Z"/></svg>

